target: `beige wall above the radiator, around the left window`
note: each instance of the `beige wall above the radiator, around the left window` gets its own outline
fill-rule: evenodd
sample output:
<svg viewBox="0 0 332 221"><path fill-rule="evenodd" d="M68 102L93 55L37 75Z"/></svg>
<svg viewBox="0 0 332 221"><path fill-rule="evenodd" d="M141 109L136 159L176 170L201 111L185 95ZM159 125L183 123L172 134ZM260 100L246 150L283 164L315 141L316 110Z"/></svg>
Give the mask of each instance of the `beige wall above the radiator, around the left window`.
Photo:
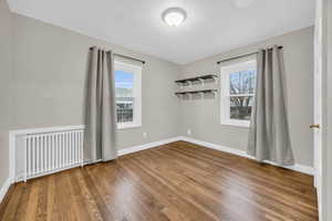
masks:
<svg viewBox="0 0 332 221"><path fill-rule="evenodd" d="M118 130L118 148L177 136L179 114L174 81L178 65L18 14L14 14L12 128L83 124L83 86L92 45L146 61L143 126ZM143 138L144 131L147 138Z"/></svg>

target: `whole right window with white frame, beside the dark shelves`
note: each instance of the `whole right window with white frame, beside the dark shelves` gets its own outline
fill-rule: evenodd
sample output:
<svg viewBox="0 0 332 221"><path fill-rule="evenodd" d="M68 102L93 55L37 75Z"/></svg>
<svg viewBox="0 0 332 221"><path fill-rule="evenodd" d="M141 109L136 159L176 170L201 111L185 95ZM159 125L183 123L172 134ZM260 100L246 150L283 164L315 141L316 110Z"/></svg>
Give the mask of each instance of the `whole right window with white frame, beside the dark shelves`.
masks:
<svg viewBox="0 0 332 221"><path fill-rule="evenodd" d="M221 67L220 123L249 127L256 90L257 61Z"/></svg>

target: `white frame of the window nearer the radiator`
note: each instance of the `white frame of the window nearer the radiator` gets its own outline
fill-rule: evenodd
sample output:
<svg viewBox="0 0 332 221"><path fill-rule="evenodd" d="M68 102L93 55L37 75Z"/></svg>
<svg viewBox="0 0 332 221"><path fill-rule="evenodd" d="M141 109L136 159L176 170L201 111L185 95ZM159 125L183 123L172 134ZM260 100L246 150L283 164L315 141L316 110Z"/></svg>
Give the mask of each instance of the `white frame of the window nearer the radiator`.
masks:
<svg viewBox="0 0 332 221"><path fill-rule="evenodd" d="M134 116L133 122L117 123L117 129L129 129L142 127L142 71L141 65L128 64L120 61L114 61L115 71L123 71L134 74ZM116 95L115 95L116 98ZM117 116L116 116L117 117Z"/></svg>

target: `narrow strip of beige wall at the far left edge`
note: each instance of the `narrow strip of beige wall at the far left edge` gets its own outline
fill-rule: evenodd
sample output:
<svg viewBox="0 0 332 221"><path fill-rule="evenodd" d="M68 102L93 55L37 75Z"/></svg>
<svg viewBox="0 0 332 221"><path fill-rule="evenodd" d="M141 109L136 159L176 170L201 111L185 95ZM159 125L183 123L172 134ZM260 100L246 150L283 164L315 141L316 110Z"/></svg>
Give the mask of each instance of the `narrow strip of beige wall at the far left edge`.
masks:
<svg viewBox="0 0 332 221"><path fill-rule="evenodd" d="M8 178L8 130L10 125L10 77L12 67L12 14L0 0L0 188Z"/></svg>

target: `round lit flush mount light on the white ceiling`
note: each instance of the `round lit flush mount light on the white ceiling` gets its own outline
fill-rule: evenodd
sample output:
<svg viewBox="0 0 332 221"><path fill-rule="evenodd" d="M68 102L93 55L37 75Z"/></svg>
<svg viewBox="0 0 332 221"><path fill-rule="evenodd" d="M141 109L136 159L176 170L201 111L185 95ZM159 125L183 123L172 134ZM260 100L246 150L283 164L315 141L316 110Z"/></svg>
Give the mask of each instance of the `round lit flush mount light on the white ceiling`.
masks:
<svg viewBox="0 0 332 221"><path fill-rule="evenodd" d="M180 8L169 8L163 12L162 18L169 27L178 27L186 20L187 13Z"/></svg>

